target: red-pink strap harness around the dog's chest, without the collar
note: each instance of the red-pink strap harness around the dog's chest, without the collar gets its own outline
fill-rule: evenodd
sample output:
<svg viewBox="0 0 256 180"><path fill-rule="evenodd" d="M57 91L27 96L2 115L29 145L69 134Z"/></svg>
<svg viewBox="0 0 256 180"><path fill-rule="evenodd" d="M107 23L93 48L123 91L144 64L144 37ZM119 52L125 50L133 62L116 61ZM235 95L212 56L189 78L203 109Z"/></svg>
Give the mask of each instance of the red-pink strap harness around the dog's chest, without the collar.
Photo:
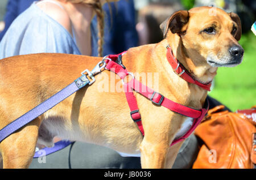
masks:
<svg viewBox="0 0 256 180"><path fill-rule="evenodd" d="M130 73L126 70L126 68L123 68L121 65L114 62L117 59L118 55L120 54L109 55L108 59L105 59L105 62L107 64L106 69L114 72L123 80ZM110 61L110 59L112 59L112 61ZM131 118L133 119L134 122L137 123L137 126L143 136L144 136L144 130L143 130L142 121L141 121L141 114L139 113L137 100L133 94L133 91L136 91L141 95L143 95L144 97L148 98L155 105L164 106L165 108L170 109L172 112L194 118L193 125L191 126L191 128L183 136L181 136L181 138L175 139L171 143L171 145L179 143L185 138L188 138L188 136L191 135L191 133L195 130L195 128L200 124L201 120L204 118L204 115L207 113L209 108L208 101L206 101L204 108L200 110L188 108L187 106L178 104L164 97L160 93L155 92L153 89L142 84L135 78L133 78L128 83L123 83L123 88L125 89L126 100L128 102L128 105L131 111L130 112Z"/></svg>

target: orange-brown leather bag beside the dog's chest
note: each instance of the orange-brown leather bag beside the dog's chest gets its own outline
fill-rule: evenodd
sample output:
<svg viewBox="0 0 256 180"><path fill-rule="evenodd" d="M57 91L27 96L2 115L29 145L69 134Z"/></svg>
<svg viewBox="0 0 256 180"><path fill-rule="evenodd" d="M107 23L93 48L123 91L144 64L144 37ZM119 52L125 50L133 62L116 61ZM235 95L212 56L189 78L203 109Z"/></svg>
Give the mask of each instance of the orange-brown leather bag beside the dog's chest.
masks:
<svg viewBox="0 0 256 180"><path fill-rule="evenodd" d="M251 118L243 111L223 109L223 105L210 109L196 128L203 145L192 168L256 168L256 106L250 109L254 114L247 114Z"/></svg>

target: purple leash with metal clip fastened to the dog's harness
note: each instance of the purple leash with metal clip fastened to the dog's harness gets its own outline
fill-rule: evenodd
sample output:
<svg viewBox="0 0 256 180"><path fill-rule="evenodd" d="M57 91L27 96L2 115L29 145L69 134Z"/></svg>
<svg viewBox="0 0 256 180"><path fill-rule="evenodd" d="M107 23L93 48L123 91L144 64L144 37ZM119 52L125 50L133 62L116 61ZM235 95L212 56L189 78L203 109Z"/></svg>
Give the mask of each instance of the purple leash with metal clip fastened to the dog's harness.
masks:
<svg viewBox="0 0 256 180"><path fill-rule="evenodd" d="M71 96L73 93L75 93L79 89L85 87L86 85L90 85L90 84L94 83L95 82L94 75L100 73L101 70L103 68L105 68L105 66L106 66L104 59L105 58L103 58L102 61L99 62L96 67L93 68L92 72L88 71L87 69L85 71L81 72L82 76L80 78L77 78L73 83L69 84L67 87L65 87L61 91L57 92L55 95L49 97L46 101L42 102L35 108L31 109L26 114L23 114L18 119L15 119L9 125L3 127L0 130L0 143L5 138L7 138L11 134L13 134L16 130L27 125L27 123L33 121L39 115L47 112L47 110L53 108L55 105L57 105L61 101L65 100L65 98ZM91 81L86 77L86 75L84 74L85 72L90 77L90 79L92 79ZM59 151L60 149L62 149L64 147L67 147L71 143L72 142L69 142L69 141L60 141L60 142L55 143L56 147L45 148L45 149L47 149L46 152L53 153L55 151Z"/></svg>

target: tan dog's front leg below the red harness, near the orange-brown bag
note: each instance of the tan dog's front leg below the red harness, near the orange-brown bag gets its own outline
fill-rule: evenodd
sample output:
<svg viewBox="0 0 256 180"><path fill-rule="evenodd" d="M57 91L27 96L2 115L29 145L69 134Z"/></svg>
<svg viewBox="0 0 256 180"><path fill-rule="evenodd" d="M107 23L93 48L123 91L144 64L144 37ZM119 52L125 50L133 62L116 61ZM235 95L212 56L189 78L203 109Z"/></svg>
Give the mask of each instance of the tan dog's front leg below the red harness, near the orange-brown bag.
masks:
<svg viewBox="0 0 256 180"><path fill-rule="evenodd" d="M178 143L170 148L170 144L181 126L180 115L166 109L163 109L163 111L157 110L159 113L154 114L154 116L143 114L146 120L142 122L144 139L140 146L142 168L170 168L182 144ZM168 160L167 162L168 153L174 156L172 156L173 160L168 158L171 161Z"/></svg>

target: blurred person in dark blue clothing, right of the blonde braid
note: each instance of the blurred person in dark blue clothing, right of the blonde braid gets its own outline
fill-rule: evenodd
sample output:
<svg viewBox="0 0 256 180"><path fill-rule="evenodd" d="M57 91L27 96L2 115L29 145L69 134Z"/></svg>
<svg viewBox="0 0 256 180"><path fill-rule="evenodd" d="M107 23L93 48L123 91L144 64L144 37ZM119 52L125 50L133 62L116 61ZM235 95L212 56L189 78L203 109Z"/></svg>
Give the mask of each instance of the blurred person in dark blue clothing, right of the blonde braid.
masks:
<svg viewBox="0 0 256 180"><path fill-rule="evenodd" d="M106 17L103 55L119 54L131 47L138 46L134 1L112 2L105 4L103 9ZM97 24L96 20L96 18L93 19L93 24Z"/></svg>

